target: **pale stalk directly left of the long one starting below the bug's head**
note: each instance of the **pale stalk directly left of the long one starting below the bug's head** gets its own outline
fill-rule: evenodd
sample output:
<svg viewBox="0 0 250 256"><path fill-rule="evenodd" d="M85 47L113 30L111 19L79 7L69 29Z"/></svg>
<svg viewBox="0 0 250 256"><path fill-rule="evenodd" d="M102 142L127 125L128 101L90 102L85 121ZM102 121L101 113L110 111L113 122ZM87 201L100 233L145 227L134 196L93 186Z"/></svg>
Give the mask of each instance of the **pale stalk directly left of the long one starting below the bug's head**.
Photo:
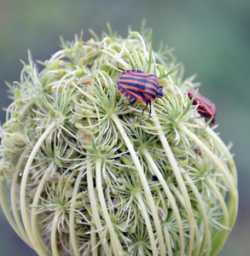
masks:
<svg viewBox="0 0 250 256"><path fill-rule="evenodd" d="M148 149L147 148L142 148L141 152L145 156L146 160L148 161L148 164L149 164L152 172L154 172L154 175L158 178L162 188L164 189L164 191L166 193L166 196L169 200L169 203L172 206L172 211L174 212L175 217L177 219L178 234L179 234L179 239L180 239L180 241L179 241L179 243L180 243L179 256L183 256L184 255L184 250L185 250L184 231L183 231L182 218L180 216L180 213L179 213L179 210L178 210L178 207L177 207L176 199L172 195L172 192L169 189L169 187L166 183L166 180L164 179L164 177L160 173L160 170L156 166L151 154L149 154ZM172 247L167 247L167 248L168 248L167 252L172 250Z"/></svg>

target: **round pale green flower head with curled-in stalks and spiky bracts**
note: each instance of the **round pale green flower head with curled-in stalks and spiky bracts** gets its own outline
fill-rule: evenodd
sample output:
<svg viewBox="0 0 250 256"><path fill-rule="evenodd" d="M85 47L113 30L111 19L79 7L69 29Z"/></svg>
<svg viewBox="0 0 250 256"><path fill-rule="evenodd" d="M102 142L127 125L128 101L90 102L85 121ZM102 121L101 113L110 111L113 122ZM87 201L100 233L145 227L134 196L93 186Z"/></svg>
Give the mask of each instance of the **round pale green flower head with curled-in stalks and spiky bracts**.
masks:
<svg viewBox="0 0 250 256"><path fill-rule="evenodd" d="M229 149L195 119L187 91L197 84L170 49L154 51L144 27L128 38L108 30L62 42L40 72L29 55L9 86L0 170L9 224L39 255L215 255L238 207ZM164 102L152 102L149 119L145 102L120 105L117 64L159 78Z"/></svg>

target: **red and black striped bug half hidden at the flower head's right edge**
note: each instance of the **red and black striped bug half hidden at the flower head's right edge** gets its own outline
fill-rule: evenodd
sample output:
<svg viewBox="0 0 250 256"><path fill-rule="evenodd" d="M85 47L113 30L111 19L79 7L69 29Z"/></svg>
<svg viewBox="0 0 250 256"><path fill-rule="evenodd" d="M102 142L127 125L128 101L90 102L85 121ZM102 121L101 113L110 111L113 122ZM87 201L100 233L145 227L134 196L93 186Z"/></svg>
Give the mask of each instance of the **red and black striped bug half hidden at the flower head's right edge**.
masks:
<svg viewBox="0 0 250 256"><path fill-rule="evenodd" d="M189 90L188 91L189 99L191 100L193 96L195 96L195 100L193 102L193 105L198 105L198 113L201 114L203 118L205 118L206 122L209 119L212 119L211 123L215 123L215 116L217 113L217 109L214 103L212 103L210 100L208 100L205 96L202 96L201 94L197 93L195 95L195 91Z"/></svg>

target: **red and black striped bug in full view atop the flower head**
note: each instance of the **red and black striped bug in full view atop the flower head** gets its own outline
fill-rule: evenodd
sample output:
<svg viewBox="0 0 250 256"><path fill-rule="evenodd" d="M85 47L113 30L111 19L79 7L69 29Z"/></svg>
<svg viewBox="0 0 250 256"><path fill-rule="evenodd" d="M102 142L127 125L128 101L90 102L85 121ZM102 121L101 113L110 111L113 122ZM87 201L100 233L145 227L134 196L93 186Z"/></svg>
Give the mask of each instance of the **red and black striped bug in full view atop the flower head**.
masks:
<svg viewBox="0 0 250 256"><path fill-rule="evenodd" d="M142 114L149 105L149 118L151 102L154 101L156 97L163 97L162 86L159 86L158 79L154 74L143 73L138 69L124 70L120 67L118 68L123 70L123 73L119 74L116 82L117 88L122 95L131 100L128 104L125 102L121 104L131 106L137 100L146 102L146 107L143 108Z"/></svg>

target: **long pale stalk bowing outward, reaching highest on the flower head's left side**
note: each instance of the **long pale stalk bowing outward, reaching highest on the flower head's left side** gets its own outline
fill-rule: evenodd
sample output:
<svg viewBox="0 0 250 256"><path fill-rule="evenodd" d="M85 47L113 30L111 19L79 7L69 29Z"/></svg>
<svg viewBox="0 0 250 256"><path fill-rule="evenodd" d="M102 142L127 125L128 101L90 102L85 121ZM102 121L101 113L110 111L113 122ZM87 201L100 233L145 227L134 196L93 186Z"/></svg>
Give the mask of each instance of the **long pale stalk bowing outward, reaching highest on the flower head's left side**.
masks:
<svg viewBox="0 0 250 256"><path fill-rule="evenodd" d="M55 123L51 123L47 127L47 129L44 131L43 135L38 139L38 143L36 143L35 147L32 149L32 153L30 154L30 156L26 162L26 167L23 172L21 184L20 184L20 213L21 213L21 217L23 220L24 227L26 229L26 234L32 243L32 247L39 255L47 255L47 253L44 250L44 247L39 242L36 241L36 239L34 238L34 236L32 234L32 228L31 228L31 225L29 222L28 212L26 209L26 182L27 182L30 168L32 166L32 161L34 160L35 155L38 152L38 149L40 148L40 146L42 145L42 143L44 142L46 137L48 137L49 133L55 129L55 126L56 126Z"/></svg>

